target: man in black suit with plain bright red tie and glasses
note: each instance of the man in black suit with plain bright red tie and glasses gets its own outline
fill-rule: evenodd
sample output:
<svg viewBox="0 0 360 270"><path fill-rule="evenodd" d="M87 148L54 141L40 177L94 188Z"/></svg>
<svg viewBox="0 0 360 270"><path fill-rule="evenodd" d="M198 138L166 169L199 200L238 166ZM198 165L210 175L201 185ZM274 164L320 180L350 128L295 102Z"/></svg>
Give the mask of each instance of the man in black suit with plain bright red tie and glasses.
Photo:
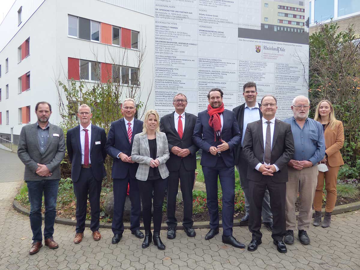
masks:
<svg viewBox="0 0 360 270"><path fill-rule="evenodd" d="M177 220L175 217L176 195L180 188L184 202L183 226L188 237L195 237L192 228L193 187L196 169L196 152L199 149L192 140L196 116L186 113L188 99L184 94L175 95L172 104L175 111L163 116L160 130L166 134L170 158L166 166L170 172L167 182L167 238L176 237Z"/></svg>

